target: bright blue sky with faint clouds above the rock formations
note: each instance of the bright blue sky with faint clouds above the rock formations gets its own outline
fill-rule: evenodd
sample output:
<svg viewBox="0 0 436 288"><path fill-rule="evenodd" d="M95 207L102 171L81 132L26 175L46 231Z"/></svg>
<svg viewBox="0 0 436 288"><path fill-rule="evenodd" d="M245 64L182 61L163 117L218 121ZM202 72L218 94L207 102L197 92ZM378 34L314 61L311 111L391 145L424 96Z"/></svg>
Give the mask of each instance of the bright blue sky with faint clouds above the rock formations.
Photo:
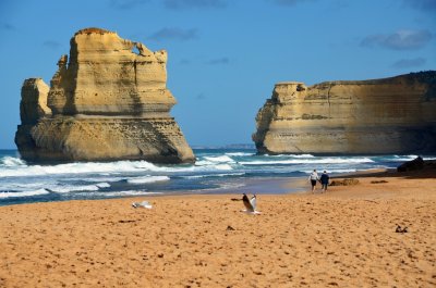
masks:
<svg viewBox="0 0 436 288"><path fill-rule="evenodd" d="M21 86L49 84L70 38L114 30L166 49L171 111L190 145L250 143L274 84L436 70L436 0L0 1L0 149L15 149Z"/></svg>

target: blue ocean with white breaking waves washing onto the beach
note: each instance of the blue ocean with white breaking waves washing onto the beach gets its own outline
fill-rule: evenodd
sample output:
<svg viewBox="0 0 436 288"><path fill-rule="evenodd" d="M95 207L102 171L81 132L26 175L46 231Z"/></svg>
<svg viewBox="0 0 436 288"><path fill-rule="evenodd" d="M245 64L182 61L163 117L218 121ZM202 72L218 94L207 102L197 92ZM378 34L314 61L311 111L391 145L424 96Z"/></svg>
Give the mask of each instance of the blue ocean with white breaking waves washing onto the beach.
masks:
<svg viewBox="0 0 436 288"><path fill-rule="evenodd" d="M116 161L31 165L16 150L0 150L0 205L171 193L284 193L293 191L284 184L307 176L314 168L334 176L395 168L416 158L258 155L254 149L194 149L194 153L195 164Z"/></svg>

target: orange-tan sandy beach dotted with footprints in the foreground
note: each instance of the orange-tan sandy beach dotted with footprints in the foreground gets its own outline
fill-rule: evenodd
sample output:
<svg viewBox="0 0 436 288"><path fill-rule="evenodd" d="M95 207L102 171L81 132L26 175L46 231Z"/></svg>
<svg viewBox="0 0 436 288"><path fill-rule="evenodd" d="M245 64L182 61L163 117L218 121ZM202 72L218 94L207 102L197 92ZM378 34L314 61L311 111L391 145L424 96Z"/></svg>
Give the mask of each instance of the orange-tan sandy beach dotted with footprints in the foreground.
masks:
<svg viewBox="0 0 436 288"><path fill-rule="evenodd" d="M435 174L358 177L261 215L238 191L1 206L0 287L436 287Z"/></svg>

